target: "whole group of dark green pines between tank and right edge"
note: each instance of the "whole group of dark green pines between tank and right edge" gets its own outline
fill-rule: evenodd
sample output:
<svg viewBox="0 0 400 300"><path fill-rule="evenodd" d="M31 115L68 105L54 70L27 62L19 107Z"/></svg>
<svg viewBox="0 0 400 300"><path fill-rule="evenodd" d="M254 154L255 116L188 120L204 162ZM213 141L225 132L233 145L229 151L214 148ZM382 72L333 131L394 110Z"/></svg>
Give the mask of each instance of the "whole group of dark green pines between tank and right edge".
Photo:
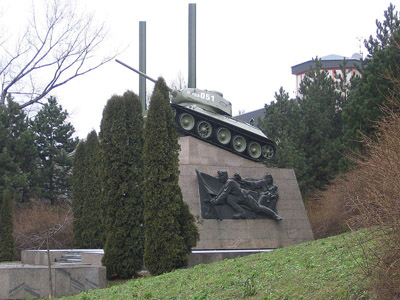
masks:
<svg viewBox="0 0 400 300"><path fill-rule="evenodd" d="M362 137L373 136L382 105L390 106L386 99L398 93L400 19L393 5L385 20L377 21L376 38L365 45L369 55L362 76L352 78L351 86L346 78L333 83L317 61L301 83L301 98L289 100L281 89L277 102L266 105L261 126L278 144L276 159L268 165L294 168L303 196L348 169L345 154L363 149ZM342 74L345 66L346 61Z"/></svg>

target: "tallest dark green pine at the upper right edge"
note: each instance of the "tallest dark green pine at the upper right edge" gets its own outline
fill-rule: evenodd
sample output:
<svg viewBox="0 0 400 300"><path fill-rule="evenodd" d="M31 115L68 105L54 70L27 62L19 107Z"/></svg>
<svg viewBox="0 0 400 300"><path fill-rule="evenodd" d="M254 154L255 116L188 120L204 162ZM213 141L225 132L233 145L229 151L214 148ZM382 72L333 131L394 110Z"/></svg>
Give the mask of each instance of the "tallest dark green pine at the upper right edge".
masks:
<svg viewBox="0 0 400 300"><path fill-rule="evenodd" d="M400 76L400 19L392 4L384 15L383 23L376 22L376 38L365 41L369 55L363 61L362 77L352 83L343 113L345 144L353 149L362 150L363 135L371 137L375 132L381 106L395 92L394 81Z"/></svg>

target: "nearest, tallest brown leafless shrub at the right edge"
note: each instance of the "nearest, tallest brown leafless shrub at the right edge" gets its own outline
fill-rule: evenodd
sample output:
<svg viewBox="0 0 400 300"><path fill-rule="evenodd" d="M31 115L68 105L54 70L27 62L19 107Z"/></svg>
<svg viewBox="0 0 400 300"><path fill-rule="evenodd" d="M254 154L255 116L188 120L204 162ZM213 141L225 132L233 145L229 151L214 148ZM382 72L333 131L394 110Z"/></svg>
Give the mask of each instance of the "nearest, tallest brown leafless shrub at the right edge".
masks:
<svg viewBox="0 0 400 300"><path fill-rule="evenodd" d="M378 299L400 297L400 102L391 105L377 127L377 139L365 140L368 156L357 158L358 184L347 193L350 226L375 228L371 236L377 246L364 255Z"/></svg>

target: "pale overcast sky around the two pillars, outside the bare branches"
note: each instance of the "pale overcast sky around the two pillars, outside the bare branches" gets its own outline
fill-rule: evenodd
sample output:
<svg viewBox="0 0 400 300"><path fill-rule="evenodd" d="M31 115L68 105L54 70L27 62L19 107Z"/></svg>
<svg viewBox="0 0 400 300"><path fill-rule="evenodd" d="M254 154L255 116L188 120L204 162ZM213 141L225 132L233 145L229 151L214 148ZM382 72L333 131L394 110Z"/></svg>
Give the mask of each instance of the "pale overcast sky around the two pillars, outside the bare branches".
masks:
<svg viewBox="0 0 400 300"><path fill-rule="evenodd" d="M42 0L36 0L39 3ZM291 66L316 56L364 53L362 40L375 35L386 0L79 0L109 28L102 51L118 46L117 58L138 67L139 21L147 27L147 73L169 84L179 72L187 80L188 3L197 7L197 87L217 90L233 112L264 107L282 86L294 95ZM395 1L392 1L396 4ZM3 3L3 5L1 5ZM1 0L9 24L24 26L31 0ZM361 40L361 42L360 42ZM138 93L138 75L116 62L55 90L80 138L99 131L113 94ZM153 85L148 82L151 92Z"/></svg>

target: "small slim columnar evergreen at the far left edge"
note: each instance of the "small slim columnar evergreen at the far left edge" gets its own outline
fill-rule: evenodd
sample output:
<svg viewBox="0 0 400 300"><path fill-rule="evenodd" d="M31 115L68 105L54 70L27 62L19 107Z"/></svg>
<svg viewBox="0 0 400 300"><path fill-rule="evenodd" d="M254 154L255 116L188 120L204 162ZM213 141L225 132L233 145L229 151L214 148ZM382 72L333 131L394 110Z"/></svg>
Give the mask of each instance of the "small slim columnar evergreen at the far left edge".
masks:
<svg viewBox="0 0 400 300"><path fill-rule="evenodd" d="M10 191L5 190L0 211L0 261L11 261L13 257L13 204Z"/></svg>

